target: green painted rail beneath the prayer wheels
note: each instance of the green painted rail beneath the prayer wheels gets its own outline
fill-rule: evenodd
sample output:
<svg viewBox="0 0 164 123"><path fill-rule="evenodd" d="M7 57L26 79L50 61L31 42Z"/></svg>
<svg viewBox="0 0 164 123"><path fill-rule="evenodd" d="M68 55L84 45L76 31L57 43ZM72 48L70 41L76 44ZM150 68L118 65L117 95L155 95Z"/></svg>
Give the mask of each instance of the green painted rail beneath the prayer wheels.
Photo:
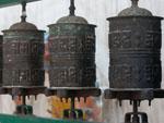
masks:
<svg viewBox="0 0 164 123"><path fill-rule="evenodd" d="M36 116L15 116L15 115L0 114L0 123L89 123L89 122L62 121Z"/></svg>

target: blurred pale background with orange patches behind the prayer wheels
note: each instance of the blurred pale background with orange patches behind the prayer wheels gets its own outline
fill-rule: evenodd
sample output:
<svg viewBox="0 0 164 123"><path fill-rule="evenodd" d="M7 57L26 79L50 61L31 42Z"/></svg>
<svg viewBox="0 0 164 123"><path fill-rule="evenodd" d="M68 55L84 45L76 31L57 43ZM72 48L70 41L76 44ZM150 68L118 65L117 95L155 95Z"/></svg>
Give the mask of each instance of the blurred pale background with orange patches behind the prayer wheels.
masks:
<svg viewBox="0 0 164 123"><path fill-rule="evenodd" d="M164 16L164 0L140 0L139 5L147 8L154 15ZM85 17L91 24L97 25L96 28L96 66L97 66L97 86L103 90L109 87L108 82L108 22L107 17L116 16L122 9L130 7L130 0L75 0L77 15ZM27 5L27 21L37 25L39 29L45 29L45 67L46 79L48 83L48 63L50 62L48 52L48 27L47 25L56 23L61 16L68 15L69 0L42 0L39 2L30 3ZM13 23L20 21L21 5L0 9L0 30L8 29ZM163 23L164 30L164 23ZM164 36L164 35L163 35ZM164 39L164 37L163 37ZM164 44L163 44L164 46ZM162 63L164 70L164 47L162 48ZM164 72L164 71L163 71ZM164 83L163 83L164 85ZM65 100L65 99L63 99ZM0 96L0 113L12 114L15 103L20 103L20 99L15 97L15 102L10 96ZM57 118L62 116L62 110L70 107L69 102L61 102L57 97L46 98L39 95L37 100L31 97L30 104L34 106L34 113L39 116ZM77 108L82 108L85 112L85 120L98 121L106 123L122 123L126 112L131 111L128 101L119 107L117 100L105 100L103 97L89 98L86 103L83 99L75 103ZM148 107L148 101L142 102L141 111L149 114L150 123L164 122L164 100L154 100L152 107Z"/></svg>

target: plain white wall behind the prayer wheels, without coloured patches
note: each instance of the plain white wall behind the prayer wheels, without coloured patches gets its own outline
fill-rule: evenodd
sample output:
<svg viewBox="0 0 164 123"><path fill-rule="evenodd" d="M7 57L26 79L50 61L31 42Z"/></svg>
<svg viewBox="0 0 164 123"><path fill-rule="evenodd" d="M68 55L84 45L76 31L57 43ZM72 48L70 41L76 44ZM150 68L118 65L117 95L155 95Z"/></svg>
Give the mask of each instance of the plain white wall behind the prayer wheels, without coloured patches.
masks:
<svg viewBox="0 0 164 123"><path fill-rule="evenodd" d="M109 16L115 16L117 13L130 5L130 0L75 0L77 14L84 16L90 23L96 24L96 64L97 64L97 82L103 88L108 87L108 22ZM164 0L140 0L140 5L153 12L154 15L164 16ZM39 29L46 29L47 25L55 23L59 17L68 14L69 0L43 0L40 2L28 4L27 20L37 25ZM0 10L0 30L8 29L10 25L20 21L21 7L10 7ZM164 27L164 26L163 26ZM163 28L164 29L164 28ZM162 50L164 59L164 48ZM34 102L35 113L45 116L44 102L37 100ZM13 104L8 104L10 97L1 97L0 110L3 113L11 113L14 109ZM118 107L116 100L104 100L105 110L104 116L110 123L121 123L124 121L124 113L128 111L127 104L122 108ZM10 107L9 107L10 106ZM39 106L39 108L37 108ZM154 101L151 108L148 103L142 104L149 113L150 123L163 123L164 116L164 100ZM144 108L143 108L144 107Z"/></svg>

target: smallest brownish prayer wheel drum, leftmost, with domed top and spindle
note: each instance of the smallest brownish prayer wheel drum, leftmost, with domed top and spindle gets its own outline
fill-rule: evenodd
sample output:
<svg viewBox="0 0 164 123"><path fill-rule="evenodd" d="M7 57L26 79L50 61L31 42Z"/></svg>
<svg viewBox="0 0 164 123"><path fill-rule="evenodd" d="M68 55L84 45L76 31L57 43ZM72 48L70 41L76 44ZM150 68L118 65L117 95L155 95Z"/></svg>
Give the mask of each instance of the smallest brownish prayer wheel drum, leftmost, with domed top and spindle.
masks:
<svg viewBox="0 0 164 123"><path fill-rule="evenodd" d="M22 21L3 30L3 86L43 87L44 32L26 22L22 4Z"/></svg>

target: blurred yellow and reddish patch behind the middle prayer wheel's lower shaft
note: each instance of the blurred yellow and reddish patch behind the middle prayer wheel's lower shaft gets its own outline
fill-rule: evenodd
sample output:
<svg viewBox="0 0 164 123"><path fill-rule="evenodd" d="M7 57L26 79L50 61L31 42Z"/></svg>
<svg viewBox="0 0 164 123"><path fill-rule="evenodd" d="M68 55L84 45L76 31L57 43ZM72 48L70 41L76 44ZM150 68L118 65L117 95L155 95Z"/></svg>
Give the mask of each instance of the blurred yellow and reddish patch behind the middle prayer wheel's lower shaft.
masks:
<svg viewBox="0 0 164 123"><path fill-rule="evenodd" d="M89 97L86 99L86 102L84 102L84 99L80 99L80 102L75 100L75 109L82 109L83 110L83 120L84 121L102 121L99 119L101 116L101 107L97 106L94 98ZM63 118L63 111L70 109L71 107L71 100L70 99L60 99L56 96L51 97L49 99L50 104L50 113L52 118L56 119L62 119Z"/></svg>

